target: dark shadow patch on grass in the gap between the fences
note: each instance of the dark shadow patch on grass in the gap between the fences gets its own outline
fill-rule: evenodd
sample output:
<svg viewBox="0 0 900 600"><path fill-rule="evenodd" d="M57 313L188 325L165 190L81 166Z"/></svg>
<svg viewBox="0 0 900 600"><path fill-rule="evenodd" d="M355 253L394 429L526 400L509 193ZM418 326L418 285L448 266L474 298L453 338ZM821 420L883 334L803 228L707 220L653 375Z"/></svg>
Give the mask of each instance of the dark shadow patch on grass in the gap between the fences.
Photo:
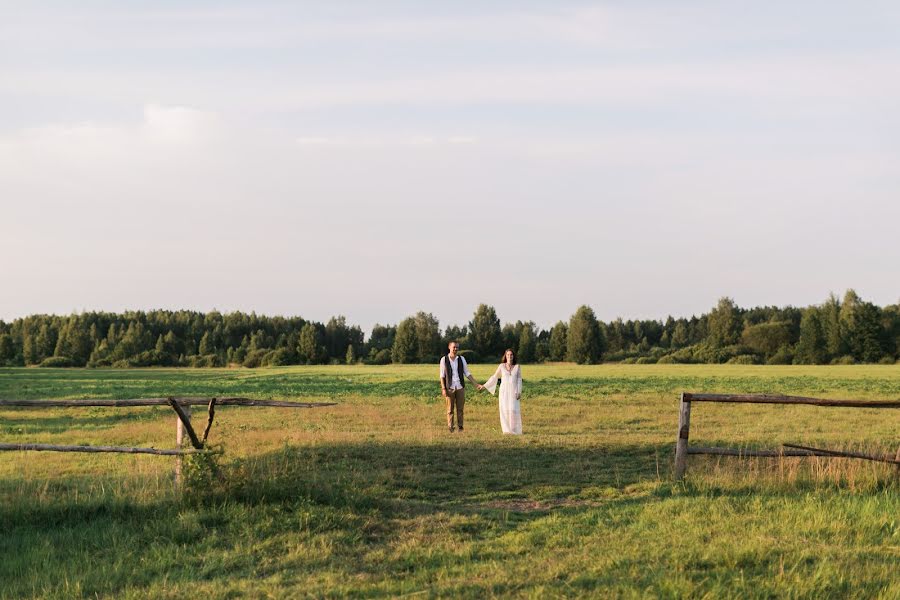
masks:
<svg viewBox="0 0 900 600"><path fill-rule="evenodd" d="M303 493L325 503L380 509L401 503L425 510L500 499L588 498L667 477L670 455L670 444L288 446L235 462L213 495L270 502Z"/></svg>

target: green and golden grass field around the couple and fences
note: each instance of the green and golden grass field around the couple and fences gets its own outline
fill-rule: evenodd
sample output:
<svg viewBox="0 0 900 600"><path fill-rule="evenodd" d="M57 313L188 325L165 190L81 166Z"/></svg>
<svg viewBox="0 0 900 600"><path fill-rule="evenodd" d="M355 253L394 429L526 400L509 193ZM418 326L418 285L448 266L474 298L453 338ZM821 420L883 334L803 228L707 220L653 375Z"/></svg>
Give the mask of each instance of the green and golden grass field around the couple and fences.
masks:
<svg viewBox="0 0 900 600"><path fill-rule="evenodd" d="M479 380L493 365L473 365ZM0 398L334 401L217 411L221 478L169 457L0 453L0 597L900 597L900 484L844 459L691 457L678 394L900 398L900 366L523 367L525 434L436 366L0 369ZM205 422L205 410L194 409ZM164 408L0 408L0 442L174 445ZM900 410L697 404L698 445L895 452Z"/></svg>

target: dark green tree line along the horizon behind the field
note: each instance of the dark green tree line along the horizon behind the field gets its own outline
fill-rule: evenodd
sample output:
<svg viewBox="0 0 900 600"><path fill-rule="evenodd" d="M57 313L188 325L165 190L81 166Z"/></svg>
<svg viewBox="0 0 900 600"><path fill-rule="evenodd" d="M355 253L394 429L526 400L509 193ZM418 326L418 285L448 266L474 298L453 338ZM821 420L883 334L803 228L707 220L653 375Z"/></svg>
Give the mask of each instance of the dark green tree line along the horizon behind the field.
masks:
<svg viewBox="0 0 900 600"><path fill-rule="evenodd" d="M722 298L699 317L608 323L581 306L550 329L532 321L501 325L482 304L462 325L441 329L433 314L419 312L375 325L368 338L343 316L319 323L186 310L31 315L0 321L0 365L434 363L450 340L474 363L497 361L512 348L523 363L893 364L900 359L900 304L879 307L853 290L806 308L744 309Z"/></svg>

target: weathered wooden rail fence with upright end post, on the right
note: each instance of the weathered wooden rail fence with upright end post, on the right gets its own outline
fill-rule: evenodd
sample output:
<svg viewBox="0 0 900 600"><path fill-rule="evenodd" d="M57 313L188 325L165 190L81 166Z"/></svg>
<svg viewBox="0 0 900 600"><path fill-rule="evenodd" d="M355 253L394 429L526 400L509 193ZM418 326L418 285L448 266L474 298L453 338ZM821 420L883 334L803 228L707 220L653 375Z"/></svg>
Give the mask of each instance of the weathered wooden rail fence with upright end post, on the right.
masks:
<svg viewBox="0 0 900 600"><path fill-rule="evenodd" d="M843 408L900 408L900 400L834 400L806 396L779 396L773 394L694 394L682 392L678 411L678 437L675 441L675 479L684 478L687 457L691 454L710 454L738 457L825 456L858 458L900 465L900 450L896 455L864 454L843 450L827 450L797 444L782 444L778 450L750 450L743 448L709 448L688 445L691 428L692 402L725 402L743 404L789 404Z"/></svg>

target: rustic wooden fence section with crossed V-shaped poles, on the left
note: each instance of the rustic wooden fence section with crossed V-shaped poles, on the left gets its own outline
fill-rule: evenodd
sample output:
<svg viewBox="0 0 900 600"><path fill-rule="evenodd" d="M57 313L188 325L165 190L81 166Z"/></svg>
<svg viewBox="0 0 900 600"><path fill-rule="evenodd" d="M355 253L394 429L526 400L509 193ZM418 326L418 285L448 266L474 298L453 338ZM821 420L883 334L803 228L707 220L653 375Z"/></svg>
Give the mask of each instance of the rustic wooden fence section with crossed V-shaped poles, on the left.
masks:
<svg viewBox="0 0 900 600"><path fill-rule="evenodd" d="M183 456L210 452L206 446L209 431L212 429L217 406L270 406L278 408L319 408L334 406L335 402L289 402L284 400L256 400L254 398L137 398L127 400L5 400L0 399L0 407L16 406L26 408L83 408L90 406L136 407L136 406L170 406L175 411L175 448L135 448L125 446L84 446L57 444L6 444L0 443L0 451L49 451L49 452L113 452L122 454L153 454L157 456L175 457L175 489L181 489ZM206 427L202 438L197 435L191 424L191 407L206 406ZM185 448L185 438L191 448Z"/></svg>

